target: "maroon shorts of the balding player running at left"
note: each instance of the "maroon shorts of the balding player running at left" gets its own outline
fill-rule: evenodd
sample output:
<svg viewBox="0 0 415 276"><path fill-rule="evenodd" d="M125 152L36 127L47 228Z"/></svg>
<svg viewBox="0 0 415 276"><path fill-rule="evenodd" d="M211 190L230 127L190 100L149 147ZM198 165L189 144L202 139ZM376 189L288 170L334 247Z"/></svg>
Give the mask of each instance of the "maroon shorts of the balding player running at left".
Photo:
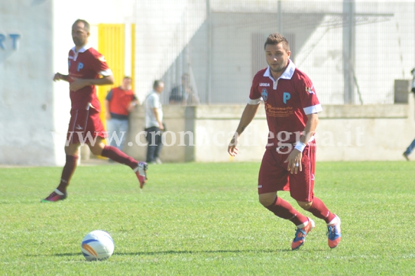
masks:
<svg viewBox="0 0 415 276"><path fill-rule="evenodd" d="M107 137L107 132L105 132L103 122L100 119L100 113L92 108L71 110L71 119L66 137L67 143L91 144L96 141L97 136Z"/></svg>

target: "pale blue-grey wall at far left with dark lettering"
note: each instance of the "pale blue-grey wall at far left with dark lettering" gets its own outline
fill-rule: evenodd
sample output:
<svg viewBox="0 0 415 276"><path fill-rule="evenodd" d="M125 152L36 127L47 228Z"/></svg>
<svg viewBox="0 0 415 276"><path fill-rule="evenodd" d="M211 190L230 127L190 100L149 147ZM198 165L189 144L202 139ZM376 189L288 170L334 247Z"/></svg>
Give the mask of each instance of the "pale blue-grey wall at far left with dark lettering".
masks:
<svg viewBox="0 0 415 276"><path fill-rule="evenodd" d="M51 1L0 1L0 164L55 164L51 12Z"/></svg>

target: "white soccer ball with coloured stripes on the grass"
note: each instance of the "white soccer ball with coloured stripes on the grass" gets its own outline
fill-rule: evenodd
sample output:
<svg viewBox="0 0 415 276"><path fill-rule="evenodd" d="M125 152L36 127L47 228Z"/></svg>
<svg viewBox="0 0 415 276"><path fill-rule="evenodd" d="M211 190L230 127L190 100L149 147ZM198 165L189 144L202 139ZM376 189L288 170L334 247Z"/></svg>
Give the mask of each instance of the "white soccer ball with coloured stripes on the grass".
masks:
<svg viewBox="0 0 415 276"><path fill-rule="evenodd" d="M103 261L114 252L114 241L107 232L95 230L86 234L81 243L81 251L86 261Z"/></svg>

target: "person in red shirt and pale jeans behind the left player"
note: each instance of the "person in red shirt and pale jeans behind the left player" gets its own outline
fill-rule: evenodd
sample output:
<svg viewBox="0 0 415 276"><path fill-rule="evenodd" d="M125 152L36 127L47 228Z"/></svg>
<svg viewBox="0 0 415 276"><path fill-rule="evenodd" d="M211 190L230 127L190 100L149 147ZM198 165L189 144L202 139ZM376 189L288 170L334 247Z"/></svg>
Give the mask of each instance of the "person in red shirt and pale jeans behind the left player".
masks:
<svg viewBox="0 0 415 276"><path fill-rule="evenodd" d="M131 90L131 78L125 76L122 84L112 88L105 98L105 118L110 146L120 151L124 149L126 132L129 130L129 113L138 104L138 99Z"/></svg>

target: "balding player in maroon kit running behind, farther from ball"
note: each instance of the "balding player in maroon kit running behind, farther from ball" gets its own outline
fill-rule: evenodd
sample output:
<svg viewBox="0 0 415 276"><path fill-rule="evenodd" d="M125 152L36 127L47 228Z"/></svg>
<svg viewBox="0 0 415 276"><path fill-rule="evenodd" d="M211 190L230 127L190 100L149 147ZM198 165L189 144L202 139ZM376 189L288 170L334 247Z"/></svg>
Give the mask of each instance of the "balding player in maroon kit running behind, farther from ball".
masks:
<svg viewBox="0 0 415 276"><path fill-rule="evenodd" d="M53 81L70 83L71 118L65 145L66 163L58 188L41 202L54 202L67 198L67 186L77 167L79 146L88 144L95 156L104 156L128 165L134 170L140 188L147 181L147 163L138 162L113 146L105 146L103 139L107 137L100 120L100 102L95 92L95 85L114 83L112 71L103 55L88 46L89 24L85 20L77 20L72 25L72 39L75 47L68 57L68 75L56 73ZM103 76L100 78L100 76Z"/></svg>

